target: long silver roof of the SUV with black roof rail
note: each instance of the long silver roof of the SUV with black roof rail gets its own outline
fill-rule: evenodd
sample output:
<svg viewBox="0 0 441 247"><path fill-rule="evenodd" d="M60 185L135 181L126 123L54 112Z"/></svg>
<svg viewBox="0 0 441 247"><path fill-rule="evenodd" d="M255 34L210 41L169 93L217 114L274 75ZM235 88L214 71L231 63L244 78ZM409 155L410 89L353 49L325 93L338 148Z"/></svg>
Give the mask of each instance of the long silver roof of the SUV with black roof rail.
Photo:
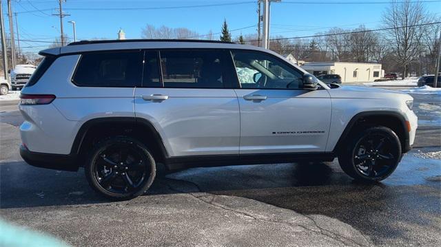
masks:
<svg viewBox="0 0 441 247"><path fill-rule="evenodd" d="M207 41L192 39L125 39L103 41L79 41L67 46L57 47L41 51L41 55L74 54L80 52L106 51L106 50L136 50L136 49L241 49L262 50L253 45L241 45L223 41Z"/></svg>

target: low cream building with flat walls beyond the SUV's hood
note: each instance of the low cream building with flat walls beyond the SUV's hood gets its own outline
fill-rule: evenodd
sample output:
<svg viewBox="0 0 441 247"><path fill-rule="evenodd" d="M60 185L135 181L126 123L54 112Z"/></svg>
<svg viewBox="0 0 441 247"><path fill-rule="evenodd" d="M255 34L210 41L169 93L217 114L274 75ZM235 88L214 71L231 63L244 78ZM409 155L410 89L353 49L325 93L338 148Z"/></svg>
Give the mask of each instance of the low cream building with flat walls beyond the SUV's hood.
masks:
<svg viewBox="0 0 441 247"><path fill-rule="evenodd" d="M306 62L302 68L314 76L338 74L342 83L367 83L384 76L380 63Z"/></svg>

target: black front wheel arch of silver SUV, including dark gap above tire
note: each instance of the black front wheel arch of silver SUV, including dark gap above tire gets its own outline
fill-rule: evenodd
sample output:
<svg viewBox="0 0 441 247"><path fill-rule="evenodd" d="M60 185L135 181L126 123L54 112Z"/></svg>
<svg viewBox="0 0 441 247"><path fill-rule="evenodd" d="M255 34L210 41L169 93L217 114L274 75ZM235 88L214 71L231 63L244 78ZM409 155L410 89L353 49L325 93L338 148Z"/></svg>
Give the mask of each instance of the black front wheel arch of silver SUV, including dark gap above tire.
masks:
<svg viewBox="0 0 441 247"><path fill-rule="evenodd" d="M351 118L338 139L333 152L339 153L354 131L362 127L384 126L392 129L400 138L402 153L411 149L406 118L397 111L362 111Z"/></svg>

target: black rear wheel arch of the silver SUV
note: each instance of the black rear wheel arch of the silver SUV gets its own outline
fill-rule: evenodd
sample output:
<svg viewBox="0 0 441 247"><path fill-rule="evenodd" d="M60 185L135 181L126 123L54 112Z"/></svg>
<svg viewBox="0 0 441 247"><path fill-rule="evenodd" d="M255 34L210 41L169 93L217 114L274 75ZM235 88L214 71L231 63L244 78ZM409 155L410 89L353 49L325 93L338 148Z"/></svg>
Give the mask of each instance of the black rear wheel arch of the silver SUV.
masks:
<svg viewBox="0 0 441 247"><path fill-rule="evenodd" d="M70 155L81 160L94 142L105 137L121 135L130 136L146 144L155 160L163 161L169 156L163 139L152 122L135 117L94 118L84 122L76 133Z"/></svg>

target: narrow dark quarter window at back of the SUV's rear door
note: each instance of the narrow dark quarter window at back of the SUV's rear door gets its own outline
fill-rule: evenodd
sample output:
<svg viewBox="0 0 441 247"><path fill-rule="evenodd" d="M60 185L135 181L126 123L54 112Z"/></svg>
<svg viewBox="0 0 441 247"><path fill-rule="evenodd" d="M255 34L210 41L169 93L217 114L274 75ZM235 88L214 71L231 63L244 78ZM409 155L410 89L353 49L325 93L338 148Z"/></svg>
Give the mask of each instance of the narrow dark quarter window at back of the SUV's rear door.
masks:
<svg viewBox="0 0 441 247"><path fill-rule="evenodd" d="M162 87L158 52L146 51L144 55L143 87Z"/></svg>

